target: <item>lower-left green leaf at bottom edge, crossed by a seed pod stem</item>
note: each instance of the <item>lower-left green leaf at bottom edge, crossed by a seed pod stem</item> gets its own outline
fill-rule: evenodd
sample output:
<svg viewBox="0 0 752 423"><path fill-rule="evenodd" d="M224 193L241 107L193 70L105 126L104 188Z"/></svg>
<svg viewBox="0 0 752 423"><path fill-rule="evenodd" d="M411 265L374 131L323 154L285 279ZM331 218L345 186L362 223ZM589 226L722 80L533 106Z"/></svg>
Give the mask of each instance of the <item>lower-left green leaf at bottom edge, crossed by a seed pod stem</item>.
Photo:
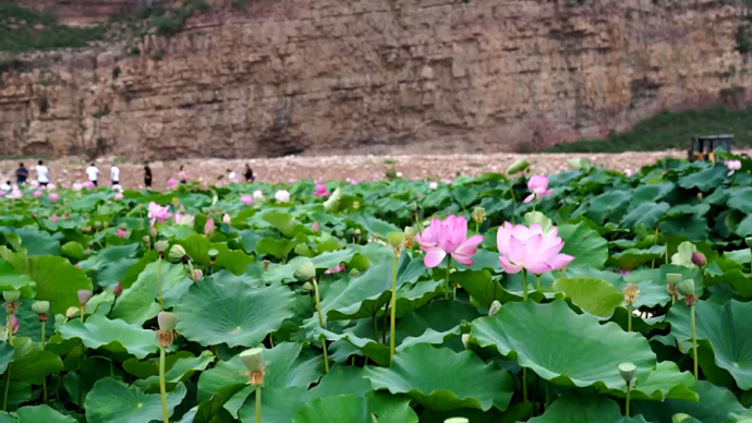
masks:
<svg viewBox="0 0 752 423"><path fill-rule="evenodd" d="M180 384L168 392L168 413L172 415L185 398L187 389ZM162 418L162 403L159 394L144 394L136 387L106 377L94 385L84 402L86 421L89 423L133 423L150 422Z"/></svg>

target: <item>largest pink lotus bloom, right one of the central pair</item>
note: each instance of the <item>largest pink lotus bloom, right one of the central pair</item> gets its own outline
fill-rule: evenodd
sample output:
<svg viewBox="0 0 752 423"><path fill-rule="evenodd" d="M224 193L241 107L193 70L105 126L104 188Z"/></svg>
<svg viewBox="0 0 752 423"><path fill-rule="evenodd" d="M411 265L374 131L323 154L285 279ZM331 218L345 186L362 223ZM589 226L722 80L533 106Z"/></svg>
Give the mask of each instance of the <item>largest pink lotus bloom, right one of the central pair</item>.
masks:
<svg viewBox="0 0 752 423"><path fill-rule="evenodd" d="M544 233L539 223L527 228L505 222L496 235L501 267L508 274L517 274L525 268L536 275L566 267L574 257L559 253L563 241L557 233L556 228Z"/></svg>

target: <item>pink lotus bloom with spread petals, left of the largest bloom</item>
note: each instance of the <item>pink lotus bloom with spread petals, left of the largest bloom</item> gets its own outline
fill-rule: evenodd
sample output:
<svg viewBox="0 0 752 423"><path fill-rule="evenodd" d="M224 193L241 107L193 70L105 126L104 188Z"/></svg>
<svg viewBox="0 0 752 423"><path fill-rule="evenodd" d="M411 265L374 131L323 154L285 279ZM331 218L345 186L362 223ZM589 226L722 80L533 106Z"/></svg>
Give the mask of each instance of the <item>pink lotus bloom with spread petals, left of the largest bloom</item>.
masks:
<svg viewBox="0 0 752 423"><path fill-rule="evenodd" d="M472 259L475 249L483 242L481 235L468 239L468 221L454 215L444 220L432 219L430 225L415 239L421 250L426 252L426 267L438 266L447 254L465 266L472 266L475 263Z"/></svg>

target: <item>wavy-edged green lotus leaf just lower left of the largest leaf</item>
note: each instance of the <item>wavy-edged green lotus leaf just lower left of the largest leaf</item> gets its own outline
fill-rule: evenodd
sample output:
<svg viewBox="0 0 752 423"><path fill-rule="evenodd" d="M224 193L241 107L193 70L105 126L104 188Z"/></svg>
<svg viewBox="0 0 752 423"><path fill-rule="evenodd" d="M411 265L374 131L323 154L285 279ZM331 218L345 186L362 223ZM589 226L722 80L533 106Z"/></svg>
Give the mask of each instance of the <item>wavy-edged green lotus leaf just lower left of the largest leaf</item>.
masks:
<svg viewBox="0 0 752 423"><path fill-rule="evenodd" d="M396 353L391 368L368 367L364 376L375 389L407 394L434 410L506 410L513 391L511 375L495 364L485 364L470 351L456 353L425 343Z"/></svg>

